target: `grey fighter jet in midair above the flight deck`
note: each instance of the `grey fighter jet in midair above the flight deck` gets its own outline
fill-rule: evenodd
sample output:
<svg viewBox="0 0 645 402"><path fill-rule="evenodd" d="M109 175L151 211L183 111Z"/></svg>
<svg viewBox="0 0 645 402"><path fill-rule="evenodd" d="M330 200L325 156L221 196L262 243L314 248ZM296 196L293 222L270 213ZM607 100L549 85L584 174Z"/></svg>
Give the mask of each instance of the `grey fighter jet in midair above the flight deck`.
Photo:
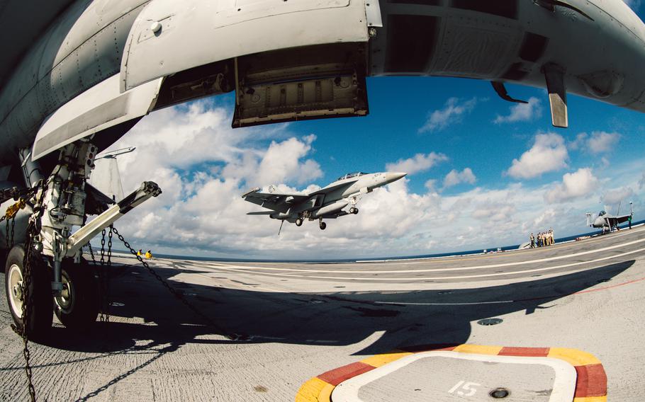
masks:
<svg viewBox="0 0 645 402"><path fill-rule="evenodd" d="M356 205L361 195L371 193L375 188L392 183L406 174L408 173L347 173L313 193L278 193L271 186L268 193L260 193L259 188L254 188L242 195L242 198L271 209L249 212L247 215L268 215L272 219L280 219L282 224L287 221L296 226L302 226L305 219L318 219L320 229L325 230L327 224L322 219L358 214ZM346 210L348 205L349 209Z"/></svg>

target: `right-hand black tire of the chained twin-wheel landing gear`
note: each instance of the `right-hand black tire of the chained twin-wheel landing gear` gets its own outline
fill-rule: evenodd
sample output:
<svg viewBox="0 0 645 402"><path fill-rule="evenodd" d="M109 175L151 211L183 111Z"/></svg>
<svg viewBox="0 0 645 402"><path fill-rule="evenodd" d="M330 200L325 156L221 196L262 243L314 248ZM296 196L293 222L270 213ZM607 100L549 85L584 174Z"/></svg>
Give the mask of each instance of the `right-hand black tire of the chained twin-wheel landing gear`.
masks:
<svg viewBox="0 0 645 402"><path fill-rule="evenodd" d="M67 328L88 328L99 315L99 284L94 269L84 260L80 264L63 261L60 276L62 292L54 297L56 316Z"/></svg>

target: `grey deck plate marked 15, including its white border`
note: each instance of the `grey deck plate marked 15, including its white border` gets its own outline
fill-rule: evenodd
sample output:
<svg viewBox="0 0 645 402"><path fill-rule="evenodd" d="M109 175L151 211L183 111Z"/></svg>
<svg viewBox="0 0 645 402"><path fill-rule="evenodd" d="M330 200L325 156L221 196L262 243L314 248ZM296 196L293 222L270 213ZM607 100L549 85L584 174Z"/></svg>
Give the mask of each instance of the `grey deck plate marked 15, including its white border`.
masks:
<svg viewBox="0 0 645 402"><path fill-rule="evenodd" d="M576 369L549 357L423 352L343 381L332 400L490 402L498 388L509 392L501 401L571 402Z"/></svg>

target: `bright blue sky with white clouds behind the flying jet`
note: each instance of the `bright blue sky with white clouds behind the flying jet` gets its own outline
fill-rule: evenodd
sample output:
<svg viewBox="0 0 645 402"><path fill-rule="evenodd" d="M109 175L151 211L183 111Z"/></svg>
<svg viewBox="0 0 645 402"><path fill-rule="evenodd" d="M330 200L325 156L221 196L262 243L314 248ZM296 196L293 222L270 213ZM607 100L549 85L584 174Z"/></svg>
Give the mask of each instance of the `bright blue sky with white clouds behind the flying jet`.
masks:
<svg viewBox="0 0 645 402"><path fill-rule="evenodd" d="M632 2L632 6L639 6ZM137 248L232 258L364 258L516 244L553 227L588 230L585 212L634 202L645 219L645 116L568 96L568 129L551 126L540 88L388 77L367 81L370 115L230 129L232 94L160 110L114 144L128 192L164 193L120 229ZM250 187L318 188L351 171L404 170L361 213L302 227L249 217ZM434 181L433 181L434 180ZM627 207L622 209L624 212Z"/></svg>

